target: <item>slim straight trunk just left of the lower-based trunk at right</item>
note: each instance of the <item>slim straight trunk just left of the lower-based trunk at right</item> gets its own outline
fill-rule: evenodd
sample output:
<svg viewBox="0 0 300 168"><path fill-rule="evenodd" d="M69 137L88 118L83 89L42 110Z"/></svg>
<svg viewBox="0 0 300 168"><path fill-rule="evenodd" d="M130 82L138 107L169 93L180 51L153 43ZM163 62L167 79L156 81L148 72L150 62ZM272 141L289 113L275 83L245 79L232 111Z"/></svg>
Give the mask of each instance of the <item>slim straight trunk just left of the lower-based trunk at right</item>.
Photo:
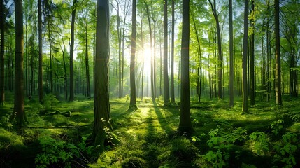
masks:
<svg viewBox="0 0 300 168"><path fill-rule="evenodd" d="M232 23L232 0L229 0L229 106L234 106L234 28Z"/></svg>

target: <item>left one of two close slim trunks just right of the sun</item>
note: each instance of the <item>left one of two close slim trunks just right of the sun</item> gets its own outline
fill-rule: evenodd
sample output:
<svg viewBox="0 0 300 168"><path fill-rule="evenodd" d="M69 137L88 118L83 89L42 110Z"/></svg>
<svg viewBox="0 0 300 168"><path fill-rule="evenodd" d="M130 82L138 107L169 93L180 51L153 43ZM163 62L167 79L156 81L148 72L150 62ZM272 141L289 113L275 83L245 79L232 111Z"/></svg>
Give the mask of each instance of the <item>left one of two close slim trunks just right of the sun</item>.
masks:
<svg viewBox="0 0 300 168"><path fill-rule="evenodd" d="M164 1L164 106L170 104L168 76L168 4Z"/></svg>

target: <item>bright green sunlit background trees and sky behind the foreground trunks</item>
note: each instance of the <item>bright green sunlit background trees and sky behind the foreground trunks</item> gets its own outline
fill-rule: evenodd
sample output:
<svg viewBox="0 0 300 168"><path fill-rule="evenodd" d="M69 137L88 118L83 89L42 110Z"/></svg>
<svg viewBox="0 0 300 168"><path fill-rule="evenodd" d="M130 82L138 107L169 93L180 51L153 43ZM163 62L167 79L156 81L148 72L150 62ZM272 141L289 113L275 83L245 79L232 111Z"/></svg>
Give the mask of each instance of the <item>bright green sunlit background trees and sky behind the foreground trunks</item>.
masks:
<svg viewBox="0 0 300 168"><path fill-rule="evenodd" d="M244 11L241 8L245 3L235 2L232 4L232 20L228 19L227 1L195 0L190 3L191 101L200 102L200 97L214 99L230 95L232 106L232 97L239 97L245 92L251 96L250 105L255 100L270 102L276 97L279 101L279 95L297 97L299 3L249 1L247 4L251 8ZM280 5L275 8L277 2ZM3 1L1 4L1 18L4 18L1 19L0 78L3 102L4 91L14 90L14 71L18 67L13 54L16 49L13 40L16 25L12 22L14 11L9 8L10 3ZM143 0L136 4L136 97L151 97L155 102L160 96L166 96L164 99L167 104L171 95L172 104L179 101L183 64L180 59L183 34L180 4L181 1L160 0ZM95 3L82 0L24 1L22 6L26 96L40 101L45 94L53 94L60 100L68 97L70 100L76 99L81 94L93 97ZM133 33L133 25L129 23L129 15L132 15L133 6L128 0L112 1L112 6L109 94L122 99L128 97L131 90L129 34ZM244 32L245 12L250 12L245 16L250 20L247 24L249 36L245 36ZM278 13L278 18L275 18ZM168 21L166 18L171 19ZM74 27L76 31L73 32ZM272 33L275 28L276 36ZM246 46L244 40L249 45ZM280 47L276 48L279 42ZM246 49L249 52L245 52ZM280 58L276 57L279 49ZM247 61L243 62L245 59ZM243 78L249 82L245 90L242 87ZM245 100L248 100L248 96Z"/></svg>

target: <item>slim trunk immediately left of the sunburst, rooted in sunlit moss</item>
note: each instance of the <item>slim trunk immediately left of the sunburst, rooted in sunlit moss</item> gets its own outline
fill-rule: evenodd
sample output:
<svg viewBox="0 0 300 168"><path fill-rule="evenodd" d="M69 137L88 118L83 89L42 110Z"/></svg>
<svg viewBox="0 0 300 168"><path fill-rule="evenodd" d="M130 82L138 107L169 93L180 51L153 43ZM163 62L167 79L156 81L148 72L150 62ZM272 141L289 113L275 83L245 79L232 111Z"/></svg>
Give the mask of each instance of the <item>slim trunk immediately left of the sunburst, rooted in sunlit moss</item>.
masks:
<svg viewBox="0 0 300 168"><path fill-rule="evenodd" d="M130 57L130 105L129 109L136 110L136 82L135 82L135 59L136 59L136 0L132 1L132 33L131 33L131 57Z"/></svg>

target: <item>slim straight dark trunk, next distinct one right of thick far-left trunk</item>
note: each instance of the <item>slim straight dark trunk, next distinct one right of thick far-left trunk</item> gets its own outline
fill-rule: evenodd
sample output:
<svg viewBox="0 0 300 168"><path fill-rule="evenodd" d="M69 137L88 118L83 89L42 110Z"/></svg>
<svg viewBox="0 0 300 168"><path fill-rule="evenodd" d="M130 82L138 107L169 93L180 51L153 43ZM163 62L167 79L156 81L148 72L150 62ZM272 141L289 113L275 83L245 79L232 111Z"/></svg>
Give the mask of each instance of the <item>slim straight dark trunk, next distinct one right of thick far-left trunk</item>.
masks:
<svg viewBox="0 0 300 168"><path fill-rule="evenodd" d="M38 0L38 100L43 101L42 1Z"/></svg>

